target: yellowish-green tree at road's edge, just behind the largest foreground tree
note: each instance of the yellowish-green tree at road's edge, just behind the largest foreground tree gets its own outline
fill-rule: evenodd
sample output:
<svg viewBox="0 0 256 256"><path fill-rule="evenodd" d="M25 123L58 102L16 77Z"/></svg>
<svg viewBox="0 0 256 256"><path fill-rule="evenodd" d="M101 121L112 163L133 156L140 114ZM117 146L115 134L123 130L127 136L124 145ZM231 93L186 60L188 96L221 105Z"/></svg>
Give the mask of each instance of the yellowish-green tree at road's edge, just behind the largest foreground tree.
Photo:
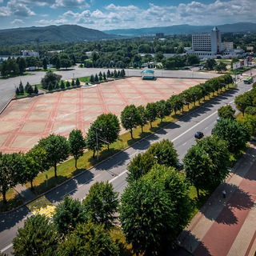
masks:
<svg viewBox="0 0 256 256"><path fill-rule="evenodd" d="M143 175L147 174L156 163L157 159L154 158L153 154L147 152L137 154L127 166L128 173L126 181L128 183L137 181Z"/></svg>

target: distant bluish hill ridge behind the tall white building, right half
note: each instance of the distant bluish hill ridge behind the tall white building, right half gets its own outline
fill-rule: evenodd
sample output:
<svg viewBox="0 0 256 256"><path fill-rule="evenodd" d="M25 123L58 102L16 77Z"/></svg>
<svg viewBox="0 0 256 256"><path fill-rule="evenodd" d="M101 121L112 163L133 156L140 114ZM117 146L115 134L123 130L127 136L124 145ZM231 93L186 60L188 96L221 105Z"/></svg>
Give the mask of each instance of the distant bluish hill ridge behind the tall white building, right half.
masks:
<svg viewBox="0 0 256 256"><path fill-rule="evenodd" d="M234 24L217 25L221 32L256 32L256 24L250 22L239 22ZM190 25L175 25L175 26L159 26L147 27L141 29L118 29L105 30L106 34L116 34L122 36L142 36L155 35L156 33L164 34L194 34L194 33L210 33L214 26L190 26Z"/></svg>

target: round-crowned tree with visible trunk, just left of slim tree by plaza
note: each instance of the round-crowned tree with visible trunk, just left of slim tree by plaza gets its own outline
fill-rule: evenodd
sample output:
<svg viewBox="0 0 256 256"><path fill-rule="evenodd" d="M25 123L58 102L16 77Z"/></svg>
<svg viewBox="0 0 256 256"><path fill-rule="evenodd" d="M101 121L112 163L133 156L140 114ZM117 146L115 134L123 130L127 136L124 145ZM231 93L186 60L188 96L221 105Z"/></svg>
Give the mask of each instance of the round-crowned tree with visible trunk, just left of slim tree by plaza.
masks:
<svg viewBox="0 0 256 256"><path fill-rule="evenodd" d="M54 176L57 177L57 164L66 160L70 155L70 143L61 135L50 134L41 138L38 142L46 151L46 158L49 166L54 167Z"/></svg>

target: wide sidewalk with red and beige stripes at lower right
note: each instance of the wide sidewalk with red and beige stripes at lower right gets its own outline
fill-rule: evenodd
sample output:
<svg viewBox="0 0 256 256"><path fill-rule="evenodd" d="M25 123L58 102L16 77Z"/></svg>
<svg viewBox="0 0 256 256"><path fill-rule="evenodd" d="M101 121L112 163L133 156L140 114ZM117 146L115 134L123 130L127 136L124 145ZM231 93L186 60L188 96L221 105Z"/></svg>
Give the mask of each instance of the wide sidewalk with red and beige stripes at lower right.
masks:
<svg viewBox="0 0 256 256"><path fill-rule="evenodd" d="M222 197L226 190L226 198ZM256 144L218 186L178 242L192 255L242 256L256 250Z"/></svg>

